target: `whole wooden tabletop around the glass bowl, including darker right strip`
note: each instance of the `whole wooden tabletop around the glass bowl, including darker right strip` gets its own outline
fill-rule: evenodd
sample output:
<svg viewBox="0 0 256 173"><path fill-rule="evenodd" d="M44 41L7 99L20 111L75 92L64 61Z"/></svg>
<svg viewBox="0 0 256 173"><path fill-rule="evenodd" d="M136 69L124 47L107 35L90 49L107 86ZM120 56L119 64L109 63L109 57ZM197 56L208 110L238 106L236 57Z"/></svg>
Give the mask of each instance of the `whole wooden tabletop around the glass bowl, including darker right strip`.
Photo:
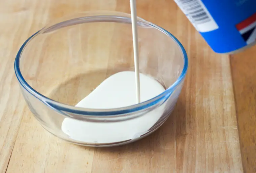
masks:
<svg viewBox="0 0 256 173"><path fill-rule="evenodd" d="M129 1L2 1L0 172L256 172L255 47L231 57L216 54L172 0L137 0L137 8L138 16L184 45L186 82L174 112L152 135L120 147L89 148L39 125L23 99L13 61L22 43L47 22L86 10L129 13Z"/></svg>

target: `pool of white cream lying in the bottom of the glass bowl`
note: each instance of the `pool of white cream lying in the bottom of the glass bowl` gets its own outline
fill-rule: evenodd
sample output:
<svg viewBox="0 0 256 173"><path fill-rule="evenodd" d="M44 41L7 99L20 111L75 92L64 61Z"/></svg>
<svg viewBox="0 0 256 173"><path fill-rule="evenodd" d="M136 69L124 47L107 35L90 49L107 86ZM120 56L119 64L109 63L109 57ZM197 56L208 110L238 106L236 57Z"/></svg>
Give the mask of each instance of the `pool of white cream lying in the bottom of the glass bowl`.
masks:
<svg viewBox="0 0 256 173"><path fill-rule="evenodd" d="M135 72L119 72L104 80L77 107L112 109L136 104ZM141 102L149 100L163 91L164 87L151 77L140 74ZM113 143L136 139L159 120L164 105L147 114L128 121L99 123L65 118L62 131L70 138L88 143Z"/></svg>

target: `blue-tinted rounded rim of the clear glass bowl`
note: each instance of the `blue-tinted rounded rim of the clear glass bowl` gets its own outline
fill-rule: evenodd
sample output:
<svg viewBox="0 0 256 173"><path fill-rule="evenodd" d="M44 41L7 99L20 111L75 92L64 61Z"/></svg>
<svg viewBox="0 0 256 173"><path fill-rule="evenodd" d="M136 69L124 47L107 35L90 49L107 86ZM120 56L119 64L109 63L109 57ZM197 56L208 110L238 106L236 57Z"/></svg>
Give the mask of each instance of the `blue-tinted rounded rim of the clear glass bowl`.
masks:
<svg viewBox="0 0 256 173"><path fill-rule="evenodd" d="M108 11L109 12L109 11ZM123 13L123 12L119 12L119 11L115 11L114 14L118 14L118 15L114 15L117 17L123 17L120 14L124 14L124 15L129 15L127 13ZM96 17L99 15L91 15L90 17ZM104 16L104 15L103 15ZM105 16L110 16L110 15L105 15ZM113 15L112 15L113 16ZM72 18L72 20L74 19L78 19L78 18ZM39 99L40 101L42 101L44 104L46 104L47 106L50 106L52 109L54 109L55 111L67 116L67 117L72 117L74 118L77 116L123 116L124 114L127 113L132 113L132 112L137 112L137 111L141 111L143 109L149 108L151 106L156 105L157 103L161 102L161 101L165 101L170 95L171 93L178 87L178 85L185 79L187 70L188 70L188 57L187 57L187 53L185 48L183 47L183 45L181 44L181 42L175 38L171 33L169 33L168 31L166 31L165 29L163 29L162 27L159 27L153 23L150 23L149 21L146 21L140 17L138 17L138 19L140 19L140 22L145 23L147 25L150 25L151 27L153 27L154 29L157 29L161 32L163 32L164 34L166 34L168 37L170 37L171 39L173 39L173 41L175 41L182 54L183 54L183 58L184 58L184 66L183 66L183 70L182 73L180 74L180 76L178 77L178 79L169 87L167 88L164 92L162 92L161 94L155 96L154 98L151 98L147 101L138 103L138 104L134 104L134 105L130 105L130 106L125 106L125 107L119 107L119 108L113 108L113 109L89 109L89 108L82 108L82 107L75 107L75 106L71 106L65 103L61 103L58 101L55 101L51 98L48 98L44 95L42 95L41 93L37 92L35 89L33 89L27 82L26 80L23 78L22 73L20 71L20 58L22 55L23 50L25 49L26 45L28 44L28 42L33 39L34 37L36 37L40 31L44 30L44 28L42 28L41 30L37 31L36 33L34 33L32 36L30 36L21 46L21 48L19 49L15 60L14 60L14 71L15 71L15 75L19 81L19 83L21 84L21 86L28 91L31 95L33 95L34 97L36 97L37 99ZM67 21L67 20L65 20ZM63 21L63 22L65 22ZM61 22L60 22L61 23ZM54 25L58 25L60 23L54 24ZM70 115L73 114L73 115Z"/></svg>

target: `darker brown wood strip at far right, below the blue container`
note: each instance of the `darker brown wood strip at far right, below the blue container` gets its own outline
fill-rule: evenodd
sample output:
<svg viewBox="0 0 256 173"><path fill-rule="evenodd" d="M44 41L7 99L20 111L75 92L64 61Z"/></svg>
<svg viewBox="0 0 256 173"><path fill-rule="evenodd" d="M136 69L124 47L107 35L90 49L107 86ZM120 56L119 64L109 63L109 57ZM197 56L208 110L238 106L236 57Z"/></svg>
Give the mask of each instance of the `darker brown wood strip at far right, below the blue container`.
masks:
<svg viewBox="0 0 256 173"><path fill-rule="evenodd" d="M232 55L231 71L243 167L256 172L256 46Z"/></svg>

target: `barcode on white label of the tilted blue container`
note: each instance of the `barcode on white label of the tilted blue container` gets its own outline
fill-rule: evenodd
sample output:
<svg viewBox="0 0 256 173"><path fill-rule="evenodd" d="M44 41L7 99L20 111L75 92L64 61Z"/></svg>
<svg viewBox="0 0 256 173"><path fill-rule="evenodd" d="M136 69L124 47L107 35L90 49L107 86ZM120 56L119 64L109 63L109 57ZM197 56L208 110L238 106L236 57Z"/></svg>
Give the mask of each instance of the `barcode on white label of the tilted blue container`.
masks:
<svg viewBox="0 0 256 173"><path fill-rule="evenodd" d="M209 32L219 28L201 0L174 1L199 32Z"/></svg>

